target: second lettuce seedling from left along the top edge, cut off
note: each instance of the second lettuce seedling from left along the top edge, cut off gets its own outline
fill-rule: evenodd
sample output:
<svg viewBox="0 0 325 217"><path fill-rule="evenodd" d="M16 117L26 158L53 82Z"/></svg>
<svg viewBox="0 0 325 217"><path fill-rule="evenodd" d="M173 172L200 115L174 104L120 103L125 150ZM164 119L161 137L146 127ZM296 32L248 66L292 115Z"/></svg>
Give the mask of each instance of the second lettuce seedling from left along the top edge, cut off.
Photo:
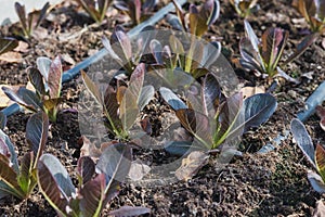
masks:
<svg viewBox="0 0 325 217"><path fill-rule="evenodd" d="M77 0L87 13L98 23L101 24L110 4L110 0Z"/></svg>

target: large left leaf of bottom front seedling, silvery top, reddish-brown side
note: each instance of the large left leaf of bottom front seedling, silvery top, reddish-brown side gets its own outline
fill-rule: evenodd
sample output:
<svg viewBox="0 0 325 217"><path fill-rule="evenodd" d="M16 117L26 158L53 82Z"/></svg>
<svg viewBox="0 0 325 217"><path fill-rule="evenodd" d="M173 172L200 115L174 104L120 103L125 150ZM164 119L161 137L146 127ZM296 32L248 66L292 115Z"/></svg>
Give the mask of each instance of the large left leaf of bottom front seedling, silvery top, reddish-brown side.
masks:
<svg viewBox="0 0 325 217"><path fill-rule="evenodd" d="M43 162L46 159L46 163ZM60 184L60 180L64 180L67 177L67 171L58 162L57 169L64 169L62 175L52 171L54 166L57 166L58 159L50 154L43 154L38 162L37 166L37 182L40 191L50 203L50 205L56 210L60 216L66 216L66 208L68 206L68 199L64 189ZM54 163L51 166L51 163ZM51 167L50 167L51 166ZM56 169L56 170L57 170ZM56 176L56 177L55 177ZM68 178L69 179L69 178Z"/></svg>

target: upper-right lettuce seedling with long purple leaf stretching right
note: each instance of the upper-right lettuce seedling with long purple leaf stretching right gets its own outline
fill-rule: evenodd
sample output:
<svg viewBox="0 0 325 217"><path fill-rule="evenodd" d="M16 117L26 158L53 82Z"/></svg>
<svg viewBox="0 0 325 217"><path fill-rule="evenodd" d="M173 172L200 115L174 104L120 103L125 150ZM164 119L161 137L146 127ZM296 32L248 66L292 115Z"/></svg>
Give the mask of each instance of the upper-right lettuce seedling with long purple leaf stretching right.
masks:
<svg viewBox="0 0 325 217"><path fill-rule="evenodd" d="M239 60L240 65L245 69L253 71L258 75L266 74L269 77L273 77L280 74L285 78L295 80L286 75L278 66L278 62L288 39L288 31L271 27L263 33L260 40L253 33L250 24L247 21L244 23L246 36L242 38L239 42L242 55ZM284 64L288 64L302 54L314 40L315 35L306 37Z"/></svg>

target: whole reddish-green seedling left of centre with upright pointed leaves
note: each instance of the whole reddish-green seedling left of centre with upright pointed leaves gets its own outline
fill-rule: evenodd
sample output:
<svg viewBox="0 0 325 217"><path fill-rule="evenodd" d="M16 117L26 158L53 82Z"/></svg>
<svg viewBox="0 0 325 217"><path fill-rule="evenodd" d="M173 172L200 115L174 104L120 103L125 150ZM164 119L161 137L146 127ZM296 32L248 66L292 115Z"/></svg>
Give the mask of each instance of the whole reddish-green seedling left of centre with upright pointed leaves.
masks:
<svg viewBox="0 0 325 217"><path fill-rule="evenodd" d="M108 120L108 130L118 139L128 139L128 131L134 124L136 115L154 97L153 86L143 87L144 63L136 66L128 87L117 86L115 89L107 84L104 94L84 72L81 72L81 75L87 89L96 103L103 107L104 115Z"/></svg>

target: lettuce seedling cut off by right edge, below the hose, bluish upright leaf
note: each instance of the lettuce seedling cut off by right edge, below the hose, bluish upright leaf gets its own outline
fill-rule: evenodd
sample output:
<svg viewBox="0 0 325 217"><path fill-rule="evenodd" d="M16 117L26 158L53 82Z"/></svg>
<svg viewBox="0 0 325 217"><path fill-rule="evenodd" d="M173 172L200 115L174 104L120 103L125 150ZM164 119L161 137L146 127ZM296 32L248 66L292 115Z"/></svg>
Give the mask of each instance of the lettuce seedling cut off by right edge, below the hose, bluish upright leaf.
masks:
<svg viewBox="0 0 325 217"><path fill-rule="evenodd" d="M311 137L299 119L294 118L290 128L296 143L317 171L317 174L312 170L308 171L310 183L315 191L325 193L325 149L321 144L317 144L315 150Z"/></svg>

